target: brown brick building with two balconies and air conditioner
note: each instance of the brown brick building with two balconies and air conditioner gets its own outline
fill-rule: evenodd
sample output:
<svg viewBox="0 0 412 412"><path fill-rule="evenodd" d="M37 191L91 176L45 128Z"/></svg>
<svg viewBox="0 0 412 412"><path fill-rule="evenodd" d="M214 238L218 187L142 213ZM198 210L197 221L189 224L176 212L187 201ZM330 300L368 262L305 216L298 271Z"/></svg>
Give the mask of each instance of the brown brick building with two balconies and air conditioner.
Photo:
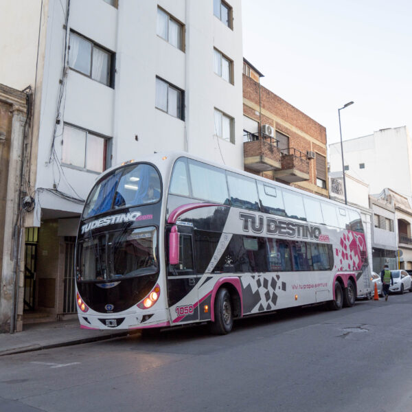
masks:
<svg viewBox="0 0 412 412"><path fill-rule="evenodd" d="M262 87L243 59L244 170L328 197L326 129Z"/></svg>

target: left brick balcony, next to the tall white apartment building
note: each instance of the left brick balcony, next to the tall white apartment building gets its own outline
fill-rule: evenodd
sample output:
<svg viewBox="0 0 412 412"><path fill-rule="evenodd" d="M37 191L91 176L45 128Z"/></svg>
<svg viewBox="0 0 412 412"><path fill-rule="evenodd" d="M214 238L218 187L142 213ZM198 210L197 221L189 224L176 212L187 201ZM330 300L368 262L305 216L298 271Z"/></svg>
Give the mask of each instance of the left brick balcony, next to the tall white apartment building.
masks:
<svg viewBox="0 0 412 412"><path fill-rule="evenodd" d="M244 167L256 172L279 170L281 151L277 148L277 140L273 137L259 138L258 135L247 133L248 141L243 144Z"/></svg>

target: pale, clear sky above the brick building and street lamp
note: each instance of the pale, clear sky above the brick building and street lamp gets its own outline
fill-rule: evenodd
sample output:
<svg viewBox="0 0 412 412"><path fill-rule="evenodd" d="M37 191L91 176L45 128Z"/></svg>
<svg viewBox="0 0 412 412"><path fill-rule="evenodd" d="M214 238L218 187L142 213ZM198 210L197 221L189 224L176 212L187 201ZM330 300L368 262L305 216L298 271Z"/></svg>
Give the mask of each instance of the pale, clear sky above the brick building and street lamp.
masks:
<svg viewBox="0 0 412 412"><path fill-rule="evenodd" d="M326 128L328 144L408 126L412 1L242 0L243 56L261 84Z"/></svg>

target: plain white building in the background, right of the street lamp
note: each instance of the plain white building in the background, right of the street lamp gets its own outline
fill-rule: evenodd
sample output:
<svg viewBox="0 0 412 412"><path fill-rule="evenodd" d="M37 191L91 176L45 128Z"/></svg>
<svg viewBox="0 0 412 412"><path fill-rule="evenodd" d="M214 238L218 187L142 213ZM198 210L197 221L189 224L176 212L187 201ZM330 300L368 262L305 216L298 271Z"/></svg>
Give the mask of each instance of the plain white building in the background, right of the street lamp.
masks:
<svg viewBox="0 0 412 412"><path fill-rule="evenodd" d="M412 144L406 126L343 141L345 170L369 185L369 194L391 187L412 196ZM329 145L330 172L342 171L341 143Z"/></svg>

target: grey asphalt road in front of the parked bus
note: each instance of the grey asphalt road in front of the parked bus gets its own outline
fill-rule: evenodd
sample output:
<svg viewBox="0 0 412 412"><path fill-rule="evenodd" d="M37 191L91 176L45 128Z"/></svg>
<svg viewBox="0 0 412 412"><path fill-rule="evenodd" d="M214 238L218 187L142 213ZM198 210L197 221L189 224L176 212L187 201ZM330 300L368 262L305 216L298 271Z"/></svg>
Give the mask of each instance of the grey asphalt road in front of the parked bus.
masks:
<svg viewBox="0 0 412 412"><path fill-rule="evenodd" d="M1 412L412 410L412 293L0 358Z"/></svg>

